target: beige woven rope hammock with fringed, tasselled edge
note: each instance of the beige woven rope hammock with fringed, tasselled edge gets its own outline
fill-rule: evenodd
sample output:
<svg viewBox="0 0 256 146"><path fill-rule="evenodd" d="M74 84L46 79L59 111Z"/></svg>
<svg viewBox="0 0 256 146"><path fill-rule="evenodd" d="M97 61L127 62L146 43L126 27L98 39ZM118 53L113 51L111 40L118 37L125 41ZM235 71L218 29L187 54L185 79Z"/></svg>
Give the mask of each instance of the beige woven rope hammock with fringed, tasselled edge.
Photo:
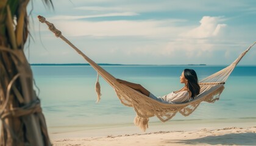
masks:
<svg viewBox="0 0 256 146"><path fill-rule="evenodd" d="M133 107L137 113L137 116L134 119L135 125L145 131L148 128L149 117L157 116L162 122L166 122L176 115L179 111L183 116L189 116L193 111L199 106L203 101L213 103L219 99L221 92L224 89L224 83L227 78L235 68L236 64L244 57L244 55L251 49L254 44L248 47L232 64L222 69L221 71L212 74L201 81L199 85L201 86L200 94L195 97L193 100L187 103L175 103L168 104L158 102L157 100L151 99L141 92L136 91L135 89L129 88L122 83L116 81L116 78L113 75L105 71L101 66L96 64L93 60L83 54L76 46L74 46L70 41L68 41L54 26L54 24L49 23L43 16L38 16L38 19L41 23L46 23L55 36L62 38L63 41L73 47L78 54L82 55L85 60L98 72L96 80L96 92L98 94L99 102L101 96L101 89L99 85L99 75L101 75L104 80L115 89L116 95L123 105Z"/></svg>

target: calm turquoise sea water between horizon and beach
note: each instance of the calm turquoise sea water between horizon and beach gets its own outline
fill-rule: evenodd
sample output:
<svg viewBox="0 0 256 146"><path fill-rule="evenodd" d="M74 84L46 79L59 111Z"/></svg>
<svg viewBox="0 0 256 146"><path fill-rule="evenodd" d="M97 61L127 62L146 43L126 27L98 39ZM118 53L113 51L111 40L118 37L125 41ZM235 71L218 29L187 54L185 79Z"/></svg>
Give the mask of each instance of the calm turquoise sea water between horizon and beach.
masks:
<svg viewBox="0 0 256 146"><path fill-rule="evenodd" d="M226 66L103 66L116 78L140 83L156 96L182 88L183 69L192 68L199 79ZM136 113L122 105L113 89L100 78L102 99L96 102L96 72L91 66L32 66L48 127L101 127L132 124ZM188 117L171 120L256 119L256 66L237 66L215 103L202 102ZM150 122L160 122L152 118Z"/></svg>

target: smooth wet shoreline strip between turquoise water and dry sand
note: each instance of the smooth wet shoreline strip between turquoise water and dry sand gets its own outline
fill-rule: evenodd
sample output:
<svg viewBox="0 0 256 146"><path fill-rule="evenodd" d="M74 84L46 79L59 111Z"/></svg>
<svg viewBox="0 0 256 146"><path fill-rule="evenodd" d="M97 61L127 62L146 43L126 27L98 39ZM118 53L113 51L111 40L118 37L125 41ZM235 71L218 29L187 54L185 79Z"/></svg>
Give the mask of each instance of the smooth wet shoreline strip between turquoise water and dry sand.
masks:
<svg viewBox="0 0 256 146"><path fill-rule="evenodd" d="M157 121L155 121L157 120ZM194 130L192 127L213 127L219 128L220 125L233 125L240 126L245 123L251 124L256 123L256 117L241 117L241 118L232 118L232 119L187 119L187 120L169 120L168 122L161 122L158 119L154 119L154 121L149 121L149 128L146 130L154 130L155 128L175 128L179 130L179 128L185 128L185 130ZM188 126L192 125L192 126ZM254 126L253 124L251 126ZM255 124L256 126L256 124ZM135 126L132 121L127 121L127 123L101 123L101 124L88 124L88 125L68 125L62 127L48 127L49 133L59 134L59 133L73 133L79 131L97 131L111 128L122 128L122 127L131 127L134 129L134 132L141 131L139 127ZM223 127L224 128L224 127ZM197 130L197 128L196 128Z"/></svg>

